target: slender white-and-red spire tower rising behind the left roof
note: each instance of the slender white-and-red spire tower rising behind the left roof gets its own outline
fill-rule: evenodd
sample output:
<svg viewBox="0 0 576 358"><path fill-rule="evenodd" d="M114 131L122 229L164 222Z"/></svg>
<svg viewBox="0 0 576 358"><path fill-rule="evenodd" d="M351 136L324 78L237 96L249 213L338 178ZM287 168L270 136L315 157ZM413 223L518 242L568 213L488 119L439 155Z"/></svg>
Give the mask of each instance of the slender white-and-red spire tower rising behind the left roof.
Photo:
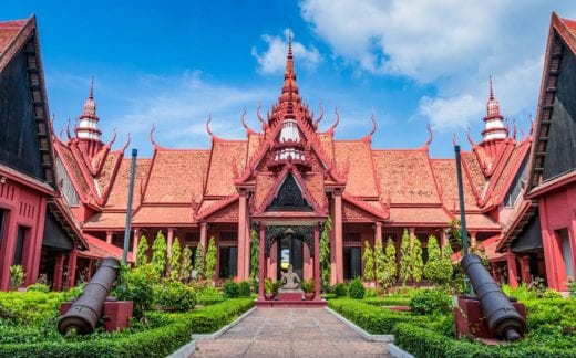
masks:
<svg viewBox="0 0 576 358"><path fill-rule="evenodd" d="M96 103L94 102L94 78L90 84L90 94L84 102L84 110L79 118L79 125L74 129L76 138L82 143L82 148L89 157L93 157L103 146L100 140L102 131L97 128Z"/></svg>

